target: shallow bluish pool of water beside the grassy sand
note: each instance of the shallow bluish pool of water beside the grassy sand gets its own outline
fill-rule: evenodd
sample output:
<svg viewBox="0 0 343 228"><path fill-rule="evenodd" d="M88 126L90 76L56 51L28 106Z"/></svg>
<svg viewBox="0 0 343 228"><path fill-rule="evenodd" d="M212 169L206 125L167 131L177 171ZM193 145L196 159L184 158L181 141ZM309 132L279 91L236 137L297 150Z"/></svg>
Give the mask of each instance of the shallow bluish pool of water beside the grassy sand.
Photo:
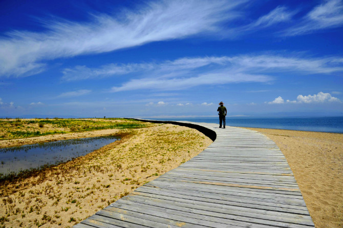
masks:
<svg viewBox="0 0 343 228"><path fill-rule="evenodd" d="M103 136L0 148L0 176L65 162L91 153L118 139L115 136Z"/></svg>

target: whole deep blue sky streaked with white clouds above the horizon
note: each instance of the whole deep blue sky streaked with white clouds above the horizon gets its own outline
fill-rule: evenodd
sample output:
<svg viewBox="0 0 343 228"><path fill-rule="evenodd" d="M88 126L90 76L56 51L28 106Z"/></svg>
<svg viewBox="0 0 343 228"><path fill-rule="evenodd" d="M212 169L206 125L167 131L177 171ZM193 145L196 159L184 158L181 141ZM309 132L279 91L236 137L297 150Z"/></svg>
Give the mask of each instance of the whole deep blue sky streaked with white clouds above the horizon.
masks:
<svg viewBox="0 0 343 228"><path fill-rule="evenodd" d="M3 0L0 117L342 116L342 28L338 0Z"/></svg>

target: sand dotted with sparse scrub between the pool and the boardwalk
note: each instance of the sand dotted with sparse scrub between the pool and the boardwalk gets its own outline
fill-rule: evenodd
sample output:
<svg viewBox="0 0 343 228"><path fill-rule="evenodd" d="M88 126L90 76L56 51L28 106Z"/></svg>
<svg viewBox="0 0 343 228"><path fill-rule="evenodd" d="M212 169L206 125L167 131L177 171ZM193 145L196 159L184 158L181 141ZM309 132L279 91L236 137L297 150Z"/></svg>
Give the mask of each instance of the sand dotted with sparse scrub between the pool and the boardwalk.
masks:
<svg viewBox="0 0 343 228"><path fill-rule="evenodd" d="M129 132L135 134L37 177L1 186L0 227L70 227L212 143L197 130L175 125Z"/></svg>

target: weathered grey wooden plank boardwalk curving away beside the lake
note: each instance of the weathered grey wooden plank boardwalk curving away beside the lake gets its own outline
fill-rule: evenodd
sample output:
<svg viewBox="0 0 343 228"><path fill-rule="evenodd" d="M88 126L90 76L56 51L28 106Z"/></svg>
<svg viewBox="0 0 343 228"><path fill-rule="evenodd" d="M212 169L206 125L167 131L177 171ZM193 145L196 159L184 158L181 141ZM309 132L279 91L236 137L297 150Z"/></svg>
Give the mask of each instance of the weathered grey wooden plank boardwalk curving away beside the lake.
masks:
<svg viewBox="0 0 343 228"><path fill-rule="evenodd" d="M217 134L206 150L74 227L314 227L272 140L246 129L193 124Z"/></svg>

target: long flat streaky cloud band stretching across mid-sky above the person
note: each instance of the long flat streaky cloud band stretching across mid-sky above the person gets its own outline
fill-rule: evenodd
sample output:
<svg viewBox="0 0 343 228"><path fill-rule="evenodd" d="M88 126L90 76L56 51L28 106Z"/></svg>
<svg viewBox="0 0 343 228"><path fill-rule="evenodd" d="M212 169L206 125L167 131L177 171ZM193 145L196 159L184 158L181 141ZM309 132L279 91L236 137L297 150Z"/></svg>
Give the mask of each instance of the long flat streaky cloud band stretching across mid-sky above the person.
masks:
<svg viewBox="0 0 343 228"><path fill-rule="evenodd" d="M180 58L162 63L140 65L139 78L132 78L112 92L130 90L183 90L202 85L242 82L270 82L272 75L329 74L343 71L340 57L302 58L297 56L238 55ZM147 70L143 70L147 69Z"/></svg>

